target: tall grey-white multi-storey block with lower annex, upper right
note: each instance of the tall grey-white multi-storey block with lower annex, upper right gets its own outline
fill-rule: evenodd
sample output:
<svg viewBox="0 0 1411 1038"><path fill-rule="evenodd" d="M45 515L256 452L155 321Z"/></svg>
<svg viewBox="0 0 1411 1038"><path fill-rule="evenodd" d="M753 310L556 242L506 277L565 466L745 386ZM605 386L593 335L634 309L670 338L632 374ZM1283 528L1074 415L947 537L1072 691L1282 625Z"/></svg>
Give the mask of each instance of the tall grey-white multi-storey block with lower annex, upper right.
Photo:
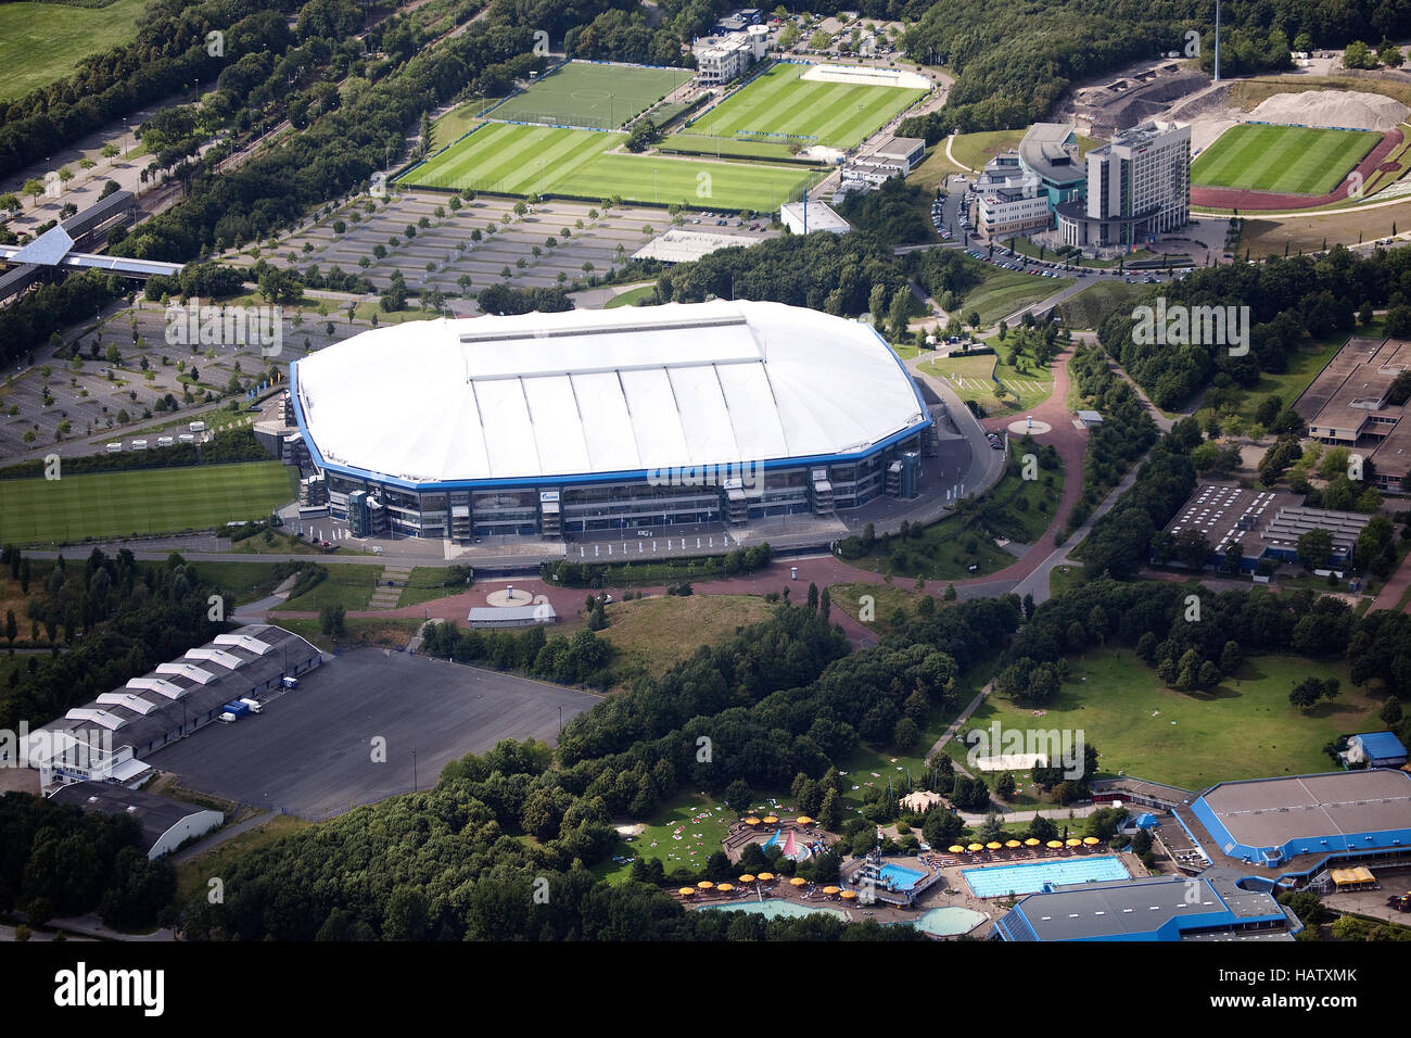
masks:
<svg viewBox="0 0 1411 1038"><path fill-rule="evenodd" d="M1134 249L1191 219L1191 127L1150 121L1088 153L1088 186L1055 209L1064 244Z"/></svg>

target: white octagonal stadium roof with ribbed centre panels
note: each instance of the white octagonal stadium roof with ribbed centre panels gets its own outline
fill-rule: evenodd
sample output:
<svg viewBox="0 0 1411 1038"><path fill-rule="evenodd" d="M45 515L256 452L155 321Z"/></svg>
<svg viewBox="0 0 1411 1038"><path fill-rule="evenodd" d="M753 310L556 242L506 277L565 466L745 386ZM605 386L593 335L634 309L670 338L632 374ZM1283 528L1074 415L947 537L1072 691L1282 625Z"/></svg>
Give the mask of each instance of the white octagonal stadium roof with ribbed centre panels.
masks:
<svg viewBox="0 0 1411 1038"><path fill-rule="evenodd" d="M323 463L408 483L848 456L927 418L869 326L775 302L412 321L295 388Z"/></svg>

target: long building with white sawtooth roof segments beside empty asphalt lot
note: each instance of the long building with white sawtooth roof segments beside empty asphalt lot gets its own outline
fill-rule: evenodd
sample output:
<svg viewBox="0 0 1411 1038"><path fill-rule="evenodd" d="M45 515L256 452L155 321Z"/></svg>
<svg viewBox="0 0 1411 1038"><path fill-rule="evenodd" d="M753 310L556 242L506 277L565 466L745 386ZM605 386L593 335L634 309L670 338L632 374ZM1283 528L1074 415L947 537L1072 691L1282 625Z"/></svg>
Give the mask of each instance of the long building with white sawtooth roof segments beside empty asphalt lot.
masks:
<svg viewBox="0 0 1411 1038"><path fill-rule="evenodd" d="M248 624L219 634L30 732L20 763L40 771L44 788L83 780L137 782L151 770L144 754L214 722L226 703L268 695L320 661L317 648L279 627Z"/></svg>

